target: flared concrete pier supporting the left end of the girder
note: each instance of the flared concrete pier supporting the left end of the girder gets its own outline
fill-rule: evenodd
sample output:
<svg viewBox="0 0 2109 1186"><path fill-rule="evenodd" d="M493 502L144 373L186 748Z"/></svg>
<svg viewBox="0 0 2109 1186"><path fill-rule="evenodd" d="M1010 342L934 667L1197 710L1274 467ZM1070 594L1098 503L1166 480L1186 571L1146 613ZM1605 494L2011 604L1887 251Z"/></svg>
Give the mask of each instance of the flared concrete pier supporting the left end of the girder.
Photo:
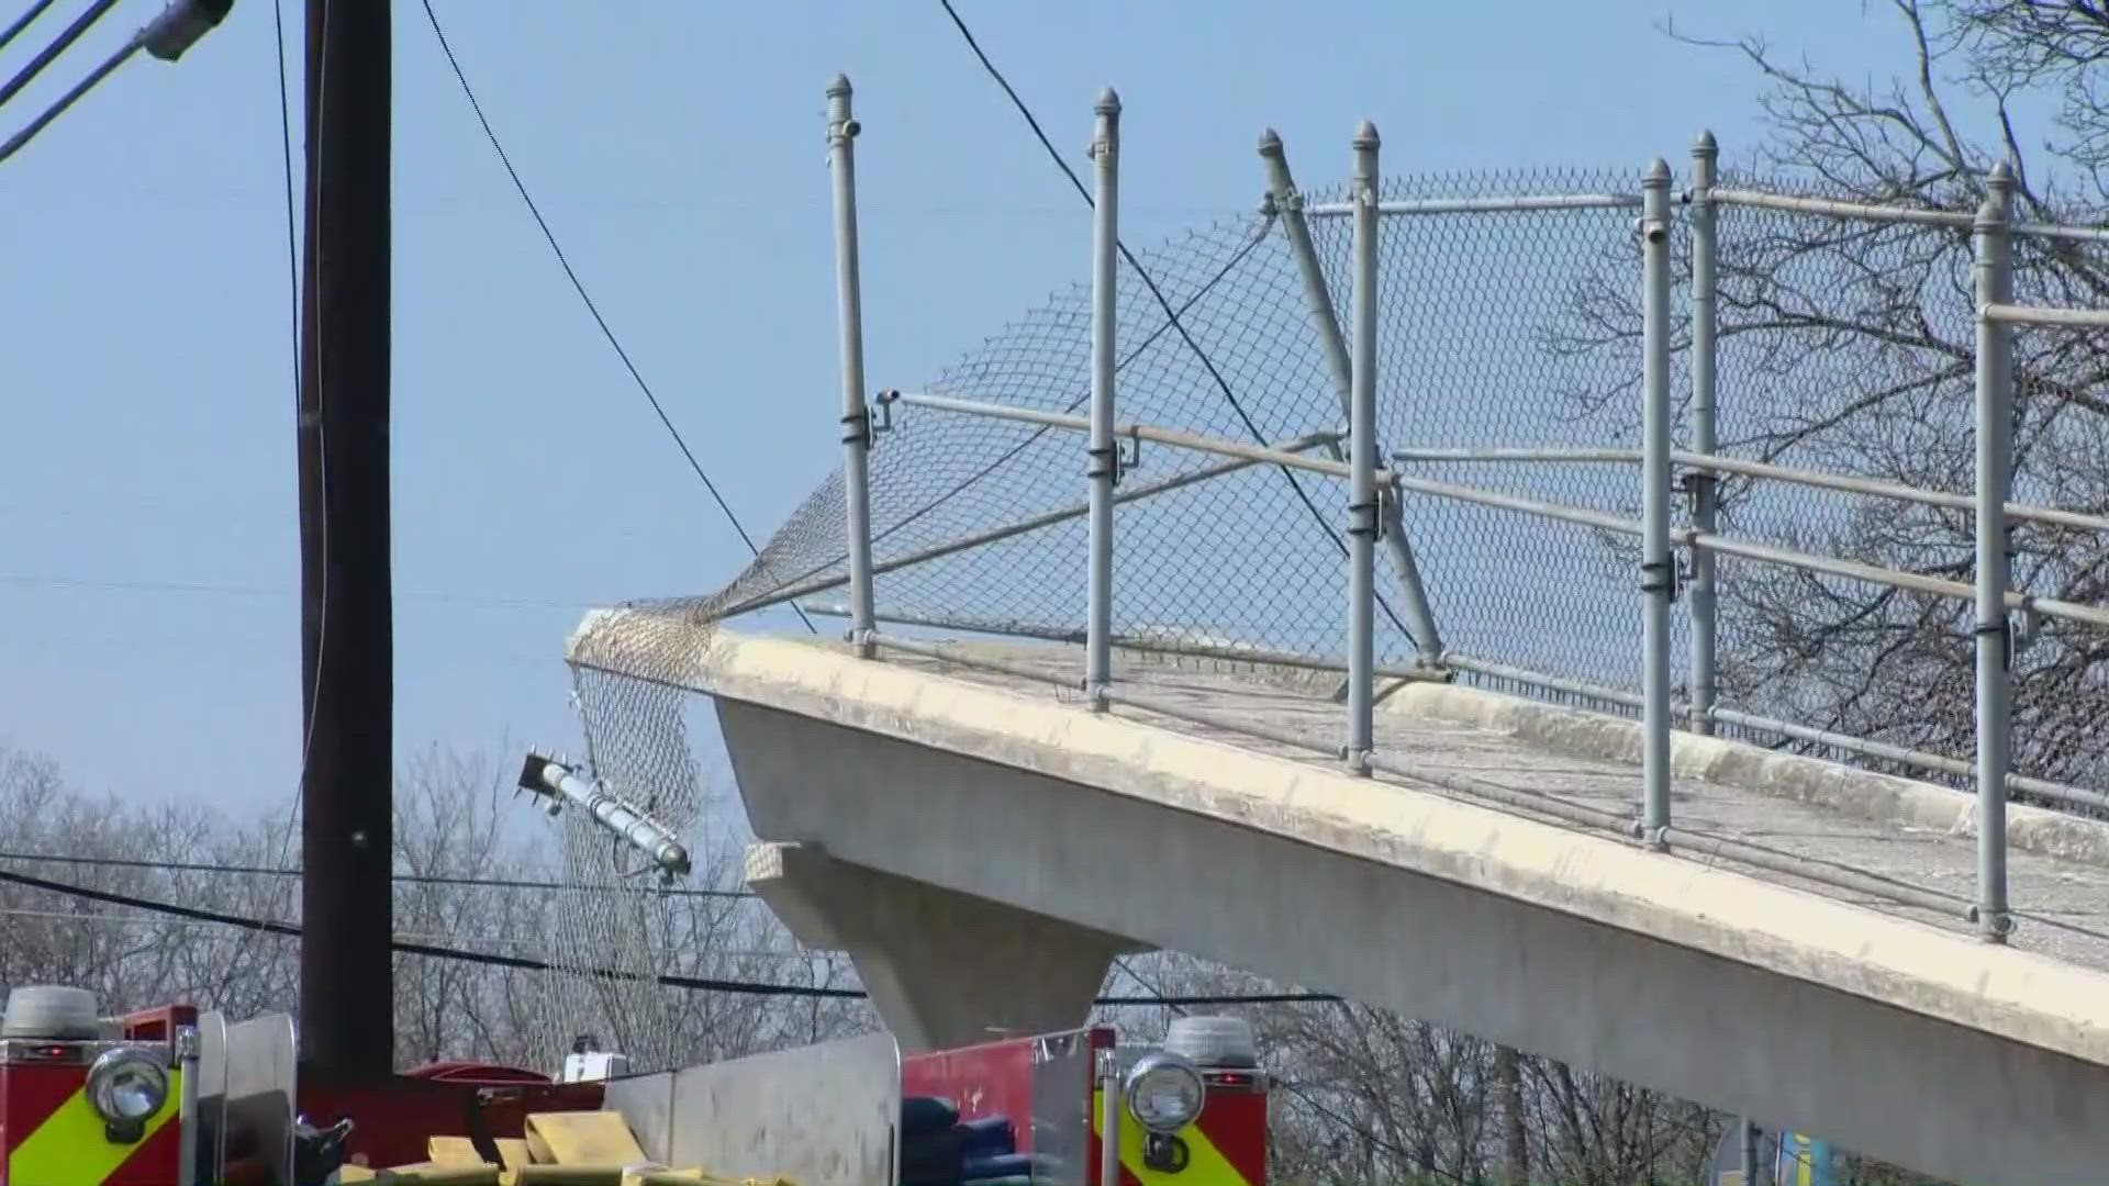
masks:
<svg viewBox="0 0 2109 1186"><path fill-rule="evenodd" d="M903 1053L1082 1026L1143 945L911 882L816 844L753 844L747 884L808 948L846 952Z"/></svg>

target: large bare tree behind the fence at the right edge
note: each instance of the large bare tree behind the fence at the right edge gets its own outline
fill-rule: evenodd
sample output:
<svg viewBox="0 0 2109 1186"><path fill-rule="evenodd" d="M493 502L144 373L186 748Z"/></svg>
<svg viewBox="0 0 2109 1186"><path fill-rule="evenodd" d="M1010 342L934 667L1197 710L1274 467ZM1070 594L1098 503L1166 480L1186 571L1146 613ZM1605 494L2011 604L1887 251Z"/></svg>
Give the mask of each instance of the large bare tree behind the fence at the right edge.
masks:
<svg viewBox="0 0 2109 1186"><path fill-rule="evenodd" d="M1759 36L1689 44L1725 51L1763 80L1772 135L1729 184L1909 209L1972 213L2006 162L2020 222L2098 224L2109 213L2109 110L2094 63L2109 17L2092 2L1890 0L1900 61L1890 82L1854 82ZM2060 135L2031 146L2016 110L2056 103ZM1976 135L1972 135L1976 133ZM1721 209L1721 437L1731 452L1902 485L1974 485L1974 289L1970 232ZM1681 249L1681 247L1679 247ZM1626 348L1639 310L1620 253L1575 287L1554 348ZM1679 257L1679 268L1687 268ZM2094 245L2014 236L2016 300L2103 306L2109 257ZM1679 340L1679 348L1685 342ZM2014 496L2109 509L2109 338L2016 333ZM1626 401L1575 393L1584 409ZM1723 525L1774 542L1968 580L1968 515L1769 483L1729 481ZM2016 585L2101 601L2109 551L2092 532L2016 523ZM1723 561L1723 694L1822 728L1968 753L1968 606L1921 593ZM2029 625L2029 623L2025 623ZM2103 781L2086 745L2109 707L2109 639L2048 620L2014 663L2016 762Z"/></svg>

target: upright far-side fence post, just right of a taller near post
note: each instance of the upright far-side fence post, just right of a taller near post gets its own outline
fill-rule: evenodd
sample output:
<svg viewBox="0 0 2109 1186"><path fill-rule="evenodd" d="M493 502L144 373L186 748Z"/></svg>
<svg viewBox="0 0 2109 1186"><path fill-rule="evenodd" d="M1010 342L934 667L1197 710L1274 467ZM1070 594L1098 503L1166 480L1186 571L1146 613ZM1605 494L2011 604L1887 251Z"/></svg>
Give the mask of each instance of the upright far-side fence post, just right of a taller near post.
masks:
<svg viewBox="0 0 2109 1186"><path fill-rule="evenodd" d="M1691 452L1713 454L1719 445L1715 431L1715 327L1719 308L1715 306L1715 264L1721 241L1717 236L1719 207L1713 203L1717 162L1721 148L1710 131L1702 131L1691 146ZM1713 534L1719 528L1721 479L1706 471L1691 471L1685 479L1691 485L1691 528ZM1715 555L1706 549L1691 549L1691 732L1710 734L1715 703L1715 639L1719 637Z"/></svg>

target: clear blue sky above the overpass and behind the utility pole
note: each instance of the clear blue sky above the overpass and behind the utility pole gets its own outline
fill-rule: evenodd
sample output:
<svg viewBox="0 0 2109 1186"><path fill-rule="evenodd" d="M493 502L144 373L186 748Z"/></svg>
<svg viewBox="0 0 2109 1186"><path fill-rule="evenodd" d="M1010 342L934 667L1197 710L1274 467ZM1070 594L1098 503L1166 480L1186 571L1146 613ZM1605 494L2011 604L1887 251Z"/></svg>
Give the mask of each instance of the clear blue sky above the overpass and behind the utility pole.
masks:
<svg viewBox="0 0 2109 1186"><path fill-rule="evenodd" d="M158 6L120 4L0 129ZM835 462L835 70L865 125L873 386L922 382L1086 274L1086 207L936 0L434 6L574 266L757 534ZM1765 32L1847 74L1890 74L1900 46L1888 6L1841 0L957 6L1073 165L1099 87L1120 89L1135 245L1255 205L1265 125L1308 184L1346 171L1362 116L1388 171L1639 169L1681 160L1700 127L1750 148L1759 80L1664 19ZM302 8L285 13L295 103ZM744 551L578 306L422 8L394 8L396 743L569 745L580 610L709 591ZM272 8L238 0L181 63L131 63L0 162L0 741L89 789L247 812L297 779L278 144Z"/></svg>

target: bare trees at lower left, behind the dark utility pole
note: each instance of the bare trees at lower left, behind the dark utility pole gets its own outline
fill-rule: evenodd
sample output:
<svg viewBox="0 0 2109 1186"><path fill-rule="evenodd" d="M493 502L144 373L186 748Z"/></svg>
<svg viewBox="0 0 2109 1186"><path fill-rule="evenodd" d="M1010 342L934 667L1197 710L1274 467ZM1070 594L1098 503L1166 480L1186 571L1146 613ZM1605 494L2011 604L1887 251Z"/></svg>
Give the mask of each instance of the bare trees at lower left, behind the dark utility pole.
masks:
<svg viewBox="0 0 2109 1186"><path fill-rule="evenodd" d="M500 749L500 753L508 753ZM565 893L540 817L515 806L510 762L428 747L396 774L396 937L470 954L550 956ZM295 922L299 884L278 876L293 819L272 808L240 823L205 806L95 800L44 758L0 749L0 850L51 855L32 876L234 918ZM683 1061L867 1030L860 1000L799 996L854 988L846 964L797 950L740 895L723 844L658 899L669 975L721 990L664 990ZM230 872L257 869L257 872ZM183 1000L230 1015L297 1007L297 945L283 933L171 918L78 895L0 884L0 988L72 983L110 1011ZM576 977L422 954L396 956L396 1059L489 1059L553 1068L572 1030L591 1028ZM774 988L772 988L774 986Z"/></svg>

